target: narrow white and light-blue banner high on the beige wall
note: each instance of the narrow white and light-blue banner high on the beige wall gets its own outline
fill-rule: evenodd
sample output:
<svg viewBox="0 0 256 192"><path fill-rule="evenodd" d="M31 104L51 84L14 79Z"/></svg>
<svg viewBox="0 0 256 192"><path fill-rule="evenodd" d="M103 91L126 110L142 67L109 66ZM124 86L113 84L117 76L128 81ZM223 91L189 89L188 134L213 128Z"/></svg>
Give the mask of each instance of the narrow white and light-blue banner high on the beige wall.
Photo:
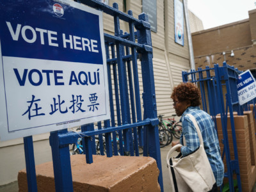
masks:
<svg viewBox="0 0 256 192"><path fill-rule="evenodd" d="M174 23L175 43L184 46L183 3L179 0L174 1Z"/></svg>

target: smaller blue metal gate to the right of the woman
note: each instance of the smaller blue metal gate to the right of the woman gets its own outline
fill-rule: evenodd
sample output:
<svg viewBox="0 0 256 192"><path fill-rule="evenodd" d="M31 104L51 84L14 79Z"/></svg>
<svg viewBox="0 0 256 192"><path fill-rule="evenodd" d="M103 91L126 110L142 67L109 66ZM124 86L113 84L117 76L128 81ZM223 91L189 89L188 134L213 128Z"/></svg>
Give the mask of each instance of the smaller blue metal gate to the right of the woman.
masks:
<svg viewBox="0 0 256 192"><path fill-rule="evenodd" d="M214 68L205 67L205 69L198 68L197 71L193 70L192 72L182 72L184 82L191 81L200 86L203 109L212 115L215 125L216 115L221 115L221 127L224 145L222 159L225 156L227 162L227 172L225 173L225 177L228 177L230 191L235 191L233 180L234 175L236 175L237 178L237 187L239 191L242 190L237 155L236 130L233 115L233 112L235 111L237 112L237 115L243 115L243 108L246 108L246 104L244 104L244 106L239 106L238 102L237 79L238 74L240 73L241 72L239 72L236 68L227 65L225 62L223 62L223 67L215 64ZM226 93L223 93L223 90L226 90ZM232 130L234 159L230 157L230 147L228 144L228 116L230 116Z"/></svg>

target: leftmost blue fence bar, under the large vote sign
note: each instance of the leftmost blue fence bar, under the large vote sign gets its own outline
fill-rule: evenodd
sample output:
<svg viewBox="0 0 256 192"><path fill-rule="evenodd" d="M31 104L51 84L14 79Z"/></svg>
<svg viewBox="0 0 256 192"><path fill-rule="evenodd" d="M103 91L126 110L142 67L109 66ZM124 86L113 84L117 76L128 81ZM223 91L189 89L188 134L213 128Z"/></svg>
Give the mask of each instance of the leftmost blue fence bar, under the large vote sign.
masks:
<svg viewBox="0 0 256 192"><path fill-rule="evenodd" d="M33 138L32 136L24 137L23 141L26 160L28 191L37 191Z"/></svg>

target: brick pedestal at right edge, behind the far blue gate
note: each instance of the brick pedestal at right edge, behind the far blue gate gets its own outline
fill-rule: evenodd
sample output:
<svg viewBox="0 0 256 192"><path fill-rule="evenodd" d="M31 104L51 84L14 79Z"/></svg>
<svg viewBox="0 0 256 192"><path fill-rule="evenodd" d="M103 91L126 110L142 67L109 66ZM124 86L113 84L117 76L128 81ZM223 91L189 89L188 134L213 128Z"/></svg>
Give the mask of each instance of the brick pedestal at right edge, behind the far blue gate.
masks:
<svg viewBox="0 0 256 192"><path fill-rule="evenodd" d="M244 111L243 116L237 116L234 113L234 124L236 129L237 153L240 168L242 191L252 191L253 184L256 181L256 140L253 137L255 134L255 126L253 121L252 111ZM221 118L216 117L218 136L221 146L221 154L223 152L223 133L221 128ZM230 147L230 156L234 160L234 147L232 141L232 131L230 117L227 121L228 143ZM225 172L227 172L226 159L224 158ZM234 177L236 179L236 177ZM227 179L225 180L227 182Z"/></svg>

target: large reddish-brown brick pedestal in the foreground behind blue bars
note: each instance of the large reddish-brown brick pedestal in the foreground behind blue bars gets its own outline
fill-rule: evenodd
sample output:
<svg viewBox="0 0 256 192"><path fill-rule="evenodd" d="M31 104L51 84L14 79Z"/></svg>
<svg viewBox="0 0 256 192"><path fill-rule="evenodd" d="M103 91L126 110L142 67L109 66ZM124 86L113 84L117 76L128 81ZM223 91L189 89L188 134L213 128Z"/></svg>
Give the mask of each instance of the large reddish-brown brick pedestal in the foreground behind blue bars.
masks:
<svg viewBox="0 0 256 192"><path fill-rule="evenodd" d="M71 156L74 191L161 191L159 170L151 157ZM36 165L38 191L55 191L52 162ZM18 175L19 191L28 191L26 169Z"/></svg>

